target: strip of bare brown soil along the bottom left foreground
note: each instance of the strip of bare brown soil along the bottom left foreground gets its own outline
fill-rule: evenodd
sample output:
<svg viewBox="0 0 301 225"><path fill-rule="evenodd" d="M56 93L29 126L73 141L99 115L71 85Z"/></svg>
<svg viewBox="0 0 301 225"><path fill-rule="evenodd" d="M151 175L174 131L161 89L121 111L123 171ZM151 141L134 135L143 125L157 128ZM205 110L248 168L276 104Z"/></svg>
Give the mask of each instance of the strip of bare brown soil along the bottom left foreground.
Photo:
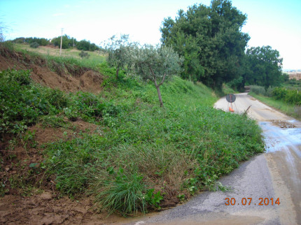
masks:
<svg viewBox="0 0 301 225"><path fill-rule="evenodd" d="M90 198L56 198L52 192L22 197L6 195L0 201L0 224L122 224L136 218L97 213Z"/></svg>

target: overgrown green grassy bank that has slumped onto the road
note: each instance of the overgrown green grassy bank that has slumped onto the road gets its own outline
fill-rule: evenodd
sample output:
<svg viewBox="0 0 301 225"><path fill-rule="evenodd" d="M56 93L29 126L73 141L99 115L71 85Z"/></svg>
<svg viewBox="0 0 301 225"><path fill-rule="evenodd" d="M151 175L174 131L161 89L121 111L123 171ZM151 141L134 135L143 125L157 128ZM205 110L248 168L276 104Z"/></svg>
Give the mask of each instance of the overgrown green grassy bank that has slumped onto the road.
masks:
<svg viewBox="0 0 301 225"><path fill-rule="evenodd" d="M99 94L43 87L28 71L0 73L1 194L52 183L131 215L214 190L218 177L264 150L255 121L212 108L217 97L200 83L163 84L160 108L151 82L116 80L105 61L94 69L104 76ZM4 173L9 165L18 172Z"/></svg>

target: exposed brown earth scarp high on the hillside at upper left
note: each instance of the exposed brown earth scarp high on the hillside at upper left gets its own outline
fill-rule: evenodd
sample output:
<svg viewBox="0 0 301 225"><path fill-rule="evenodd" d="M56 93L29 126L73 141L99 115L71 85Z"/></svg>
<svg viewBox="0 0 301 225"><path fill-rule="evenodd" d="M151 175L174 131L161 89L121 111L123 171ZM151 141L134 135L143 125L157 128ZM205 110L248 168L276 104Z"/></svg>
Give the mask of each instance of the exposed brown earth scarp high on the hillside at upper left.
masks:
<svg viewBox="0 0 301 225"><path fill-rule="evenodd" d="M38 56L6 49L0 50L0 71L8 68L31 70L31 78L38 84L66 92L101 92L103 75L90 68L59 64Z"/></svg>

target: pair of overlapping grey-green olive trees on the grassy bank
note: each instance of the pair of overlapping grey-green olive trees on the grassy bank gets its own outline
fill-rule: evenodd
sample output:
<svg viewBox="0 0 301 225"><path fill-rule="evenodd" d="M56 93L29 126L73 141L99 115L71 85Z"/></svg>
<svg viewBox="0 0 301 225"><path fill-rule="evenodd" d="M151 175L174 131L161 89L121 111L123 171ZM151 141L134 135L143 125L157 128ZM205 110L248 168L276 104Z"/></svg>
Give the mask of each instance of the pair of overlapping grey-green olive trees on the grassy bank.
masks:
<svg viewBox="0 0 301 225"><path fill-rule="evenodd" d="M113 36L105 48L109 65L116 68L116 78L120 69L142 80L152 80L158 92L160 106L163 106L160 85L171 77L181 73L183 60L178 53L167 46L140 46L130 43L128 36L120 39Z"/></svg>

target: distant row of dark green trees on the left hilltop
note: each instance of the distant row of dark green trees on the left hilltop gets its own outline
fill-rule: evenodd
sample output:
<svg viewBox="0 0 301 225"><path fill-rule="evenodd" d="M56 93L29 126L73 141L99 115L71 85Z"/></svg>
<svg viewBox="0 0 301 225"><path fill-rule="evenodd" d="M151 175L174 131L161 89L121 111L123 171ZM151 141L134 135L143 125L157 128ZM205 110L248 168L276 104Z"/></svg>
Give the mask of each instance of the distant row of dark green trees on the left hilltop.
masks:
<svg viewBox="0 0 301 225"><path fill-rule="evenodd" d="M45 45L54 45L54 46L60 46L61 45L61 37L55 37L52 39L46 39L46 38L15 38L13 40L13 43L27 43L31 46L45 46ZM90 43L90 41L82 40L82 41L76 41L76 38L71 38L67 35L62 36L62 48L77 48L78 50L83 51L91 51L99 50L99 47L95 45L94 43Z"/></svg>

